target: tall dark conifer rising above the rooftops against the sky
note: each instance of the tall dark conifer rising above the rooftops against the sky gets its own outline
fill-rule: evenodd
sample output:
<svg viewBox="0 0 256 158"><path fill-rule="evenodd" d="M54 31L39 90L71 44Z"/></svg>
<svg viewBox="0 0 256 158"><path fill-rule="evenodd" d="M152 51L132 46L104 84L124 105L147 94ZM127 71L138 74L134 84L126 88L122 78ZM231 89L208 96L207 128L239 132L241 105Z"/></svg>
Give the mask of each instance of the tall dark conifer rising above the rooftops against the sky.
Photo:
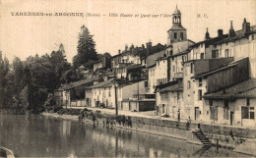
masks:
<svg viewBox="0 0 256 158"><path fill-rule="evenodd" d="M93 39L93 35L90 34L89 29L86 26L81 26L81 32L79 33L78 54L73 58L73 66L79 68L81 65L86 67L88 61L96 61L96 43ZM90 65L89 67L92 67Z"/></svg>

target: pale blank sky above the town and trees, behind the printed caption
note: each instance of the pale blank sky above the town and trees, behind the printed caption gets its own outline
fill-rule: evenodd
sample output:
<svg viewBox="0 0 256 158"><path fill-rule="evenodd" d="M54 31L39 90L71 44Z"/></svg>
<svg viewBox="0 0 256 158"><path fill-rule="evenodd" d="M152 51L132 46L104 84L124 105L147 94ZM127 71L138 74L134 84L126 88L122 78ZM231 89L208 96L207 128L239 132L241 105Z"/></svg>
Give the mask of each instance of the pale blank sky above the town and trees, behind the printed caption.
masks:
<svg viewBox="0 0 256 158"><path fill-rule="evenodd" d="M246 18L256 25L256 0L0 0L0 50L12 61L14 56L25 60L36 53L50 54L64 44L67 59L77 54L78 33L85 25L94 34L96 51L111 55L123 50L125 44L141 46L149 40L153 45L165 44L171 18L113 18L109 13L168 14L177 7L182 26L189 39L204 39L206 27L210 36L219 28L227 33L230 21L235 30L241 29ZM11 12L43 12L53 16L12 16ZM101 17L56 17L55 13L94 13ZM208 18L197 18L206 14ZM105 15L105 16L102 16Z"/></svg>

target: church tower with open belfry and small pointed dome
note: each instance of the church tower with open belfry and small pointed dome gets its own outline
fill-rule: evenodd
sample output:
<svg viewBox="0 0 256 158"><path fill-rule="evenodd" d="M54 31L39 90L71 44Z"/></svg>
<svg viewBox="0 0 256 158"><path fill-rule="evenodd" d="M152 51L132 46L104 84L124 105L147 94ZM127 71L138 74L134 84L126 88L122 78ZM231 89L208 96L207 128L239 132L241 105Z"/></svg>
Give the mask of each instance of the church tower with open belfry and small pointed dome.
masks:
<svg viewBox="0 0 256 158"><path fill-rule="evenodd" d="M187 40L187 30L181 26L181 13L177 6L172 14L172 26L167 32L167 45L171 45L173 42Z"/></svg>

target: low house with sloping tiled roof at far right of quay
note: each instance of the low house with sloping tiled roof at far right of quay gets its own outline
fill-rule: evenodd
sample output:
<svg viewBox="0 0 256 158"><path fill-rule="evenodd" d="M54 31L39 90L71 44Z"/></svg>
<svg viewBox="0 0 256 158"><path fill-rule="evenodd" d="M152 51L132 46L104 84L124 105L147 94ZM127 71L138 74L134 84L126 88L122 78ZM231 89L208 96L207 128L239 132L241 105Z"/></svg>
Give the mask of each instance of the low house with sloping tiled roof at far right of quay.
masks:
<svg viewBox="0 0 256 158"><path fill-rule="evenodd" d="M247 79L205 98L205 120L212 124L256 127L256 79Z"/></svg>

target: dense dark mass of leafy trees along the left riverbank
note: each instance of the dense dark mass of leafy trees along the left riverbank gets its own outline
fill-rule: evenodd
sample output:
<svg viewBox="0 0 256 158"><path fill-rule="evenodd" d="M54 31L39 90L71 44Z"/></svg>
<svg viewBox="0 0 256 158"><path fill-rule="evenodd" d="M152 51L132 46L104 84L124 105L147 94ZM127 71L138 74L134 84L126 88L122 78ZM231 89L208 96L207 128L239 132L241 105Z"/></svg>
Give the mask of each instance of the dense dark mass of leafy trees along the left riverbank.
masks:
<svg viewBox="0 0 256 158"><path fill-rule="evenodd" d="M26 61L15 57L12 65L0 53L0 106L24 107L33 113L44 110L48 93L58 88L66 71L72 69L65 57L63 44L59 50ZM50 106L53 106L51 104Z"/></svg>

